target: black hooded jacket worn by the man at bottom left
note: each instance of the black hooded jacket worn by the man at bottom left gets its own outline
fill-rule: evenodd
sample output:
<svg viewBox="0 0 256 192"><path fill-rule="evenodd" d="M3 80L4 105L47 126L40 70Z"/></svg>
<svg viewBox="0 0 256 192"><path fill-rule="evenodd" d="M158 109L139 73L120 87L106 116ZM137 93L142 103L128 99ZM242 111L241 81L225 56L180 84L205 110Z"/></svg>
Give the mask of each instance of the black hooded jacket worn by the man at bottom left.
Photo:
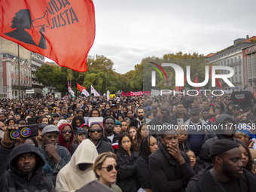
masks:
<svg viewBox="0 0 256 192"><path fill-rule="evenodd" d="M12 153L11 153L12 151ZM17 169L17 156L20 154L33 153L36 157L36 166L30 180ZM8 162L10 169L6 171ZM19 145L14 149L0 147L0 191L55 191L52 181L43 176L42 167L44 160L38 154L35 146L30 144Z"/></svg>

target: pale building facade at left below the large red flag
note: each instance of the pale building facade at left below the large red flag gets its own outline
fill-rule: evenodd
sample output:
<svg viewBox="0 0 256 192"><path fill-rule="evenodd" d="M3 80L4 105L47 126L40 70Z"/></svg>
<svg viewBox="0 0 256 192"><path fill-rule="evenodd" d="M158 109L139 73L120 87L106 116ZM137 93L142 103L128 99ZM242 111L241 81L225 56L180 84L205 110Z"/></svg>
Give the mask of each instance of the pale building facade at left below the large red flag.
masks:
<svg viewBox="0 0 256 192"><path fill-rule="evenodd" d="M19 52L19 53L18 53ZM26 90L35 90L33 96L42 95L42 84L35 79L35 70L44 64L44 56L0 37L0 98L25 98ZM20 58L20 75L18 65ZM19 87L20 76L20 87ZM19 96L20 92L20 96Z"/></svg>

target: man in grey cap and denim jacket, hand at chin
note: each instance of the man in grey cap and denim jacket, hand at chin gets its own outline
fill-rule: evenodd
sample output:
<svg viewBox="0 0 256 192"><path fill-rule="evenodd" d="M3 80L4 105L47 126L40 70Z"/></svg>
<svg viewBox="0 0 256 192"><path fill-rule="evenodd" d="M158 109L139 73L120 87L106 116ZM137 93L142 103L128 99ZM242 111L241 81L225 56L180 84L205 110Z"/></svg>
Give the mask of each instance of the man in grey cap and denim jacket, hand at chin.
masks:
<svg viewBox="0 0 256 192"><path fill-rule="evenodd" d="M44 158L44 175L55 184L56 175L67 163L71 156L67 148L57 145L60 131L54 125L47 125L42 131L42 143L38 147L41 157Z"/></svg>

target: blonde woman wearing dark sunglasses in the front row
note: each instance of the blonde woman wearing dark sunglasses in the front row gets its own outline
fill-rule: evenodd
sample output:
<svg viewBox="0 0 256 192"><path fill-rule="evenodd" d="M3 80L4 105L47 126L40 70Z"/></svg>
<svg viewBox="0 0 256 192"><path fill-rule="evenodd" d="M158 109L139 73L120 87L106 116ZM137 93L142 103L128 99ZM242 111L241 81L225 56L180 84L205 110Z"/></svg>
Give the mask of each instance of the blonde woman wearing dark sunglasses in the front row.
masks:
<svg viewBox="0 0 256 192"><path fill-rule="evenodd" d="M100 154L93 164L93 172L98 181L110 187L115 192L122 192L120 187L114 184L120 166L117 165L117 155L111 152Z"/></svg>

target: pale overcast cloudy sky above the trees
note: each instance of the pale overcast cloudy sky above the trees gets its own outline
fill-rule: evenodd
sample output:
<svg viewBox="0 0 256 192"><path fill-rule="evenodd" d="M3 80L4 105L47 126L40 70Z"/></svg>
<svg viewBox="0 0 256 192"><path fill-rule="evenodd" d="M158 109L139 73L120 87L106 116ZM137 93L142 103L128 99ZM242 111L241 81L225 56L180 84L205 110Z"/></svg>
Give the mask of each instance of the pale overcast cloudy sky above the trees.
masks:
<svg viewBox="0 0 256 192"><path fill-rule="evenodd" d="M104 55L126 73L147 56L222 50L256 35L254 0L94 0L96 38L90 55Z"/></svg>

